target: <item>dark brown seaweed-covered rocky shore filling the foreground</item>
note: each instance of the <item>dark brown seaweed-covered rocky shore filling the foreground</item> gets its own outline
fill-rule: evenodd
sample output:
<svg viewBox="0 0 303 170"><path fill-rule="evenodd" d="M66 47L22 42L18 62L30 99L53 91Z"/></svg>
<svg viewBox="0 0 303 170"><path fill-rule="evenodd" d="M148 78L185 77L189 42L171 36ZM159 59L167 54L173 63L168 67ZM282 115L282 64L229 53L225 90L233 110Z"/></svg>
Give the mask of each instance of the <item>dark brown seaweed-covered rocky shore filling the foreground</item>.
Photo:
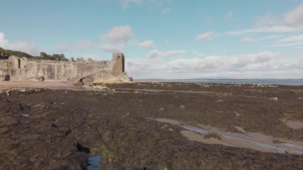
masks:
<svg viewBox="0 0 303 170"><path fill-rule="evenodd" d="M180 123L157 121L163 118ZM291 149L276 153L227 146L222 134L189 133L182 126L260 133L278 146L303 142L302 122L303 86L5 87L0 93L0 169L85 170L92 158L100 158L99 169L105 170L300 169L303 155ZM191 138L195 135L201 140Z"/></svg>

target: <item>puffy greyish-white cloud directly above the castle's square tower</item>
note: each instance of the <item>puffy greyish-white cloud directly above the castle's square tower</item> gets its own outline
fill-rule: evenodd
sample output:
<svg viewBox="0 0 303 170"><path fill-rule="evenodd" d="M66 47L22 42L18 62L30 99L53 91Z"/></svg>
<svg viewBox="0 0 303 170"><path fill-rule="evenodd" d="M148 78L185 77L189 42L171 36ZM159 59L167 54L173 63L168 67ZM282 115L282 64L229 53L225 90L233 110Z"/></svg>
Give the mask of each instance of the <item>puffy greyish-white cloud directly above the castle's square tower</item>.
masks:
<svg viewBox="0 0 303 170"><path fill-rule="evenodd" d="M124 49L127 42L131 40L134 33L129 25L115 26L108 33L102 36L100 48L104 52L118 52Z"/></svg>

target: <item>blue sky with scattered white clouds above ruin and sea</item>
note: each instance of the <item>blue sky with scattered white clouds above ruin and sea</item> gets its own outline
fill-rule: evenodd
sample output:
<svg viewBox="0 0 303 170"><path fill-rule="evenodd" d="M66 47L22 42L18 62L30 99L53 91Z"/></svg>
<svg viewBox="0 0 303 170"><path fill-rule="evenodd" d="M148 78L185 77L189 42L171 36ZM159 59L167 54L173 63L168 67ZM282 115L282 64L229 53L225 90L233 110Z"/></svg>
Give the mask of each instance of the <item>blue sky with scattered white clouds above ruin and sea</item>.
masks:
<svg viewBox="0 0 303 170"><path fill-rule="evenodd" d="M0 47L134 79L303 79L303 0L0 0Z"/></svg>

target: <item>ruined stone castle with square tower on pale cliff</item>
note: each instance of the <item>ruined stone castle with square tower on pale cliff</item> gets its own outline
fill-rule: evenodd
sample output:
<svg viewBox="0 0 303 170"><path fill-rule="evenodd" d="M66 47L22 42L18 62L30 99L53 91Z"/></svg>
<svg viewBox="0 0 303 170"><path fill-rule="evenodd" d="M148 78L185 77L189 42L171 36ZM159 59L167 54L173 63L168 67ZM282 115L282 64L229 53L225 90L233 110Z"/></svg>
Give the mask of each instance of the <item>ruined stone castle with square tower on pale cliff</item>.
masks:
<svg viewBox="0 0 303 170"><path fill-rule="evenodd" d="M67 81L79 79L85 82L102 82L113 80L129 82L125 73L125 56L114 53L111 61L95 61L89 58L85 61L78 58L74 61L34 60L26 57L10 56L0 60L0 76L7 76L12 81Z"/></svg>

